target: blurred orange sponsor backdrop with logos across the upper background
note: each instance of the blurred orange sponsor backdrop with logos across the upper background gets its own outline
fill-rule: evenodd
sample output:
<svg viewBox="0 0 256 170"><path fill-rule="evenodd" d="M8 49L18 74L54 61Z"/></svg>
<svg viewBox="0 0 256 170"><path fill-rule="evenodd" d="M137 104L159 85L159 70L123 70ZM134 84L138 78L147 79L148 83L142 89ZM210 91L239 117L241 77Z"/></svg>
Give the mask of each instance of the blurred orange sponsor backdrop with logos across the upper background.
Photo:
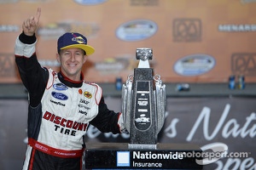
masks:
<svg viewBox="0 0 256 170"><path fill-rule="evenodd" d="M56 41L79 31L96 48L88 82L114 82L137 67L137 48L164 82L256 82L255 0L0 0L0 82L20 82L14 59L21 24L42 8L37 54L58 71Z"/></svg>

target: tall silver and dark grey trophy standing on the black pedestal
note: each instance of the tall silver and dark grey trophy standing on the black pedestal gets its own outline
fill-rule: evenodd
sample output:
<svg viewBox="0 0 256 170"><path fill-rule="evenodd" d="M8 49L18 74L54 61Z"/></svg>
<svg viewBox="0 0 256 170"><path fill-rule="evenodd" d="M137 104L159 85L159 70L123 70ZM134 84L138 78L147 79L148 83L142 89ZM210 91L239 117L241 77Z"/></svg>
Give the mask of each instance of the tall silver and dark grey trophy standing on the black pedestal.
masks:
<svg viewBox="0 0 256 170"><path fill-rule="evenodd" d="M160 75L149 68L151 48L137 48L139 65L122 88L122 112L130 133L129 148L156 147L157 135L163 127L166 112L166 85Z"/></svg>

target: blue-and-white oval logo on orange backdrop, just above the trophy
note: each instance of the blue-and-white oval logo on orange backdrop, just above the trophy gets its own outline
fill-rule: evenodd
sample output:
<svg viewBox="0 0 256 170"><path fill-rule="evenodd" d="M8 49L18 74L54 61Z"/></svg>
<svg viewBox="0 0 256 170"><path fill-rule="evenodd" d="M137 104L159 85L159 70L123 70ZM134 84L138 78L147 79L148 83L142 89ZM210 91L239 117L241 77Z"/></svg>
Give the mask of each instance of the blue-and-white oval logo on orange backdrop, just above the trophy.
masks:
<svg viewBox="0 0 256 170"><path fill-rule="evenodd" d="M116 36L119 39L132 42L152 37L157 31L157 25L151 20L131 20L119 26Z"/></svg>

